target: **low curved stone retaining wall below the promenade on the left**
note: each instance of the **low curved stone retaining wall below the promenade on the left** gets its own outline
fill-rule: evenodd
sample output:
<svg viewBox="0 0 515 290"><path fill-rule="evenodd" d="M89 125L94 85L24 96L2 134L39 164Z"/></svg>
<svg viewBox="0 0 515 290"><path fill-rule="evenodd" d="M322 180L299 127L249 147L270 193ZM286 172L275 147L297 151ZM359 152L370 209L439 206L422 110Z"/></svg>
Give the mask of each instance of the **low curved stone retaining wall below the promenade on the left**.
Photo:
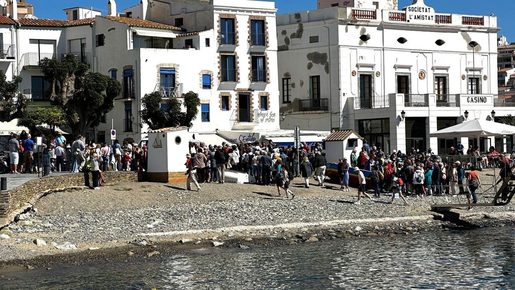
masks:
<svg viewBox="0 0 515 290"><path fill-rule="evenodd" d="M138 182L138 172L104 172L106 183ZM141 177L140 177L141 180ZM91 184L91 174L90 174ZM48 176L31 180L10 191L0 192L0 228L10 223L16 212L25 210L26 203L35 203L45 191L57 188L71 188L84 186L84 174L74 173L60 176ZM22 210L23 209L23 210Z"/></svg>

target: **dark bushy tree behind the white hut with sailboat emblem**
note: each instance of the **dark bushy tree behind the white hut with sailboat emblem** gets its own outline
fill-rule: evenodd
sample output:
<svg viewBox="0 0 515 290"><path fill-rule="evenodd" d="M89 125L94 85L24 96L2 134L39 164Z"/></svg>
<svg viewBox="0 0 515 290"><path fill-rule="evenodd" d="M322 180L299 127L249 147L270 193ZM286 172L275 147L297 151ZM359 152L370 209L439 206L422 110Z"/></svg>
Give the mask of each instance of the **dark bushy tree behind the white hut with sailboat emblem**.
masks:
<svg viewBox="0 0 515 290"><path fill-rule="evenodd" d="M189 91L182 94L184 101L171 98L166 101L167 108L161 108L163 99L160 92L145 94L142 104L143 110L140 112L143 123L147 124L151 130L166 127L191 127L193 121L197 119L200 99L198 94ZM183 111L185 108L185 111Z"/></svg>

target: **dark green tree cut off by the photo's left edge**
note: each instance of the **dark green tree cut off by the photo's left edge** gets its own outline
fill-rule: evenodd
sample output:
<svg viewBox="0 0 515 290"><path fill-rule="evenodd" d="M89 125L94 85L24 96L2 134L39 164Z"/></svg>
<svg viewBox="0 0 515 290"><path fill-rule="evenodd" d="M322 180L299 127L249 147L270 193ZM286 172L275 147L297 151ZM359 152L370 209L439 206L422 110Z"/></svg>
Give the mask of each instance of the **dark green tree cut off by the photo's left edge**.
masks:
<svg viewBox="0 0 515 290"><path fill-rule="evenodd" d="M14 76L8 81L3 72L0 72L0 122L9 122L20 118L27 107L27 99L18 94L18 87L22 78Z"/></svg>

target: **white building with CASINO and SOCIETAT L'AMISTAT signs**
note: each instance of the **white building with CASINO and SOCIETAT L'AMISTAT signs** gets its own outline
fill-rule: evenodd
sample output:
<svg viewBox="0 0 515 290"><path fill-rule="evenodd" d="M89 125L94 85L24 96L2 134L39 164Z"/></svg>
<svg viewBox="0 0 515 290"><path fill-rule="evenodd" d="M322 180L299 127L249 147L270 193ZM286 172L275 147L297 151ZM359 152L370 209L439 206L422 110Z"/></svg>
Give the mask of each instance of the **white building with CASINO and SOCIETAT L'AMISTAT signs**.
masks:
<svg viewBox="0 0 515 290"><path fill-rule="evenodd" d="M512 114L497 97L495 17L436 13L421 0L338 5L278 15L282 128L353 129L384 151L444 154L469 140L430 133ZM512 137L476 143L511 150Z"/></svg>

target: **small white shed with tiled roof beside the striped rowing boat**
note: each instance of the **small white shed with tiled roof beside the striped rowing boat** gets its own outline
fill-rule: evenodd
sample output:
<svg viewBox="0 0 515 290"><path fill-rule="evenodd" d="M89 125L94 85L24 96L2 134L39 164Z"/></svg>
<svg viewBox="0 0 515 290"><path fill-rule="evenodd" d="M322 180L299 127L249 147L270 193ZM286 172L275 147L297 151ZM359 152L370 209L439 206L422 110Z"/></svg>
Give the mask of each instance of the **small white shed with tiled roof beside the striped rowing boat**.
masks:
<svg viewBox="0 0 515 290"><path fill-rule="evenodd" d="M350 163L352 150L359 152L362 147L363 138L356 131L335 131L325 138L325 159L328 163L338 163L340 158L347 157Z"/></svg>

